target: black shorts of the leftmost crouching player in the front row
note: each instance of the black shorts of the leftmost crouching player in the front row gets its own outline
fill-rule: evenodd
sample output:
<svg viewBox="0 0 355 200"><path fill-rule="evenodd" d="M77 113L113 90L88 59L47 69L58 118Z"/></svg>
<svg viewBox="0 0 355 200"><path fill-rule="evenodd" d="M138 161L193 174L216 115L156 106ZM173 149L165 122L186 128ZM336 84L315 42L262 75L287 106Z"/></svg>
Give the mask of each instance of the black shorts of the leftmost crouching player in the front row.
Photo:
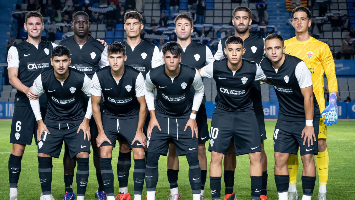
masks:
<svg viewBox="0 0 355 200"><path fill-rule="evenodd" d="M54 158L59 158L63 141L69 148L70 158L81 152L90 153L90 141L86 137L84 140L84 131L78 128L80 123L44 123L50 134L42 134L38 142L38 153L44 153Z"/></svg>

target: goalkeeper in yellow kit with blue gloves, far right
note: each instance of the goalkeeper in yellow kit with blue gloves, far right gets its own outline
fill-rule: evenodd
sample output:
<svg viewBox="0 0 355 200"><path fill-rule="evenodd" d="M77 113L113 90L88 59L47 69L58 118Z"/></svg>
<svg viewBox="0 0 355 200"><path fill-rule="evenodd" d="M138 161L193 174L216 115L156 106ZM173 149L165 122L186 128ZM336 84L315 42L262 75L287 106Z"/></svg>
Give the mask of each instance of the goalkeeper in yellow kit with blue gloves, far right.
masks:
<svg viewBox="0 0 355 200"><path fill-rule="evenodd" d="M327 199L327 181L329 156L327 150L327 126L337 123L337 91L338 83L335 75L335 64L329 46L326 43L316 40L308 34L308 27L311 26L312 14L307 7L296 7L292 11L296 37L285 41L285 53L302 59L312 73L313 92L321 111L321 120L318 134L318 155L316 156L317 171L319 176L318 200ZM324 73L328 79L329 105L325 107L324 99ZM326 116L326 117L324 117ZM290 174L289 197L290 200L297 199L296 178L298 169L298 155L290 154L288 159Z"/></svg>

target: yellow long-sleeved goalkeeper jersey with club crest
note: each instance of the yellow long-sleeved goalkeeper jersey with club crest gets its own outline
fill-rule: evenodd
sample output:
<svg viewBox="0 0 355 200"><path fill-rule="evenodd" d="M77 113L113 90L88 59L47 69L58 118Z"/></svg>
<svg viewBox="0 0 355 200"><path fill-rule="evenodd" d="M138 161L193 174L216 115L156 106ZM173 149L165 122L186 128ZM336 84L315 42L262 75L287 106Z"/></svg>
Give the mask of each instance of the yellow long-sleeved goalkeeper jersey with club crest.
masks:
<svg viewBox="0 0 355 200"><path fill-rule="evenodd" d="M286 47L285 53L302 59L312 73L313 92L322 112L325 109L324 73L328 79L328 91L338 91L335 64L328 44L313 37L304 42L297 41L296 37L293 37L284 43Z"/></svg>

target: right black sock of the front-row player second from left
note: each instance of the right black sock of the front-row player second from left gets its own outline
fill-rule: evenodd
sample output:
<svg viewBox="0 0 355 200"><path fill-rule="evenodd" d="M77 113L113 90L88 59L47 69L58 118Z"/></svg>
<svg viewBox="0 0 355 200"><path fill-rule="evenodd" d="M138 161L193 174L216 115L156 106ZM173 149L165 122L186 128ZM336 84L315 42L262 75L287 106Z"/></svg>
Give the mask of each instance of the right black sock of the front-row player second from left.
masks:
<svg viewBox="0 0 355 200"><path fill-rule="evenodd" d="M144 175L146 174L146 159L134 159L134 194L142 195L144 185Z"/></svg>

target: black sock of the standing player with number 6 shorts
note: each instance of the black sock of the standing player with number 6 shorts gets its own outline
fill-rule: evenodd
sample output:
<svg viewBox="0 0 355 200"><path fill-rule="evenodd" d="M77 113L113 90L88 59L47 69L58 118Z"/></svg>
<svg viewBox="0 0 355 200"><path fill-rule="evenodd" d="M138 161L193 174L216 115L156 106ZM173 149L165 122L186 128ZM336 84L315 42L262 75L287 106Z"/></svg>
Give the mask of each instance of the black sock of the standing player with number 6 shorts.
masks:
<svg viewBox="0 0 355 200"><path fill-rule="evenodd" d="M18 179L21 173L22 156L10 154L9 158L9 182L10 188L17 188Z"/></svg>

